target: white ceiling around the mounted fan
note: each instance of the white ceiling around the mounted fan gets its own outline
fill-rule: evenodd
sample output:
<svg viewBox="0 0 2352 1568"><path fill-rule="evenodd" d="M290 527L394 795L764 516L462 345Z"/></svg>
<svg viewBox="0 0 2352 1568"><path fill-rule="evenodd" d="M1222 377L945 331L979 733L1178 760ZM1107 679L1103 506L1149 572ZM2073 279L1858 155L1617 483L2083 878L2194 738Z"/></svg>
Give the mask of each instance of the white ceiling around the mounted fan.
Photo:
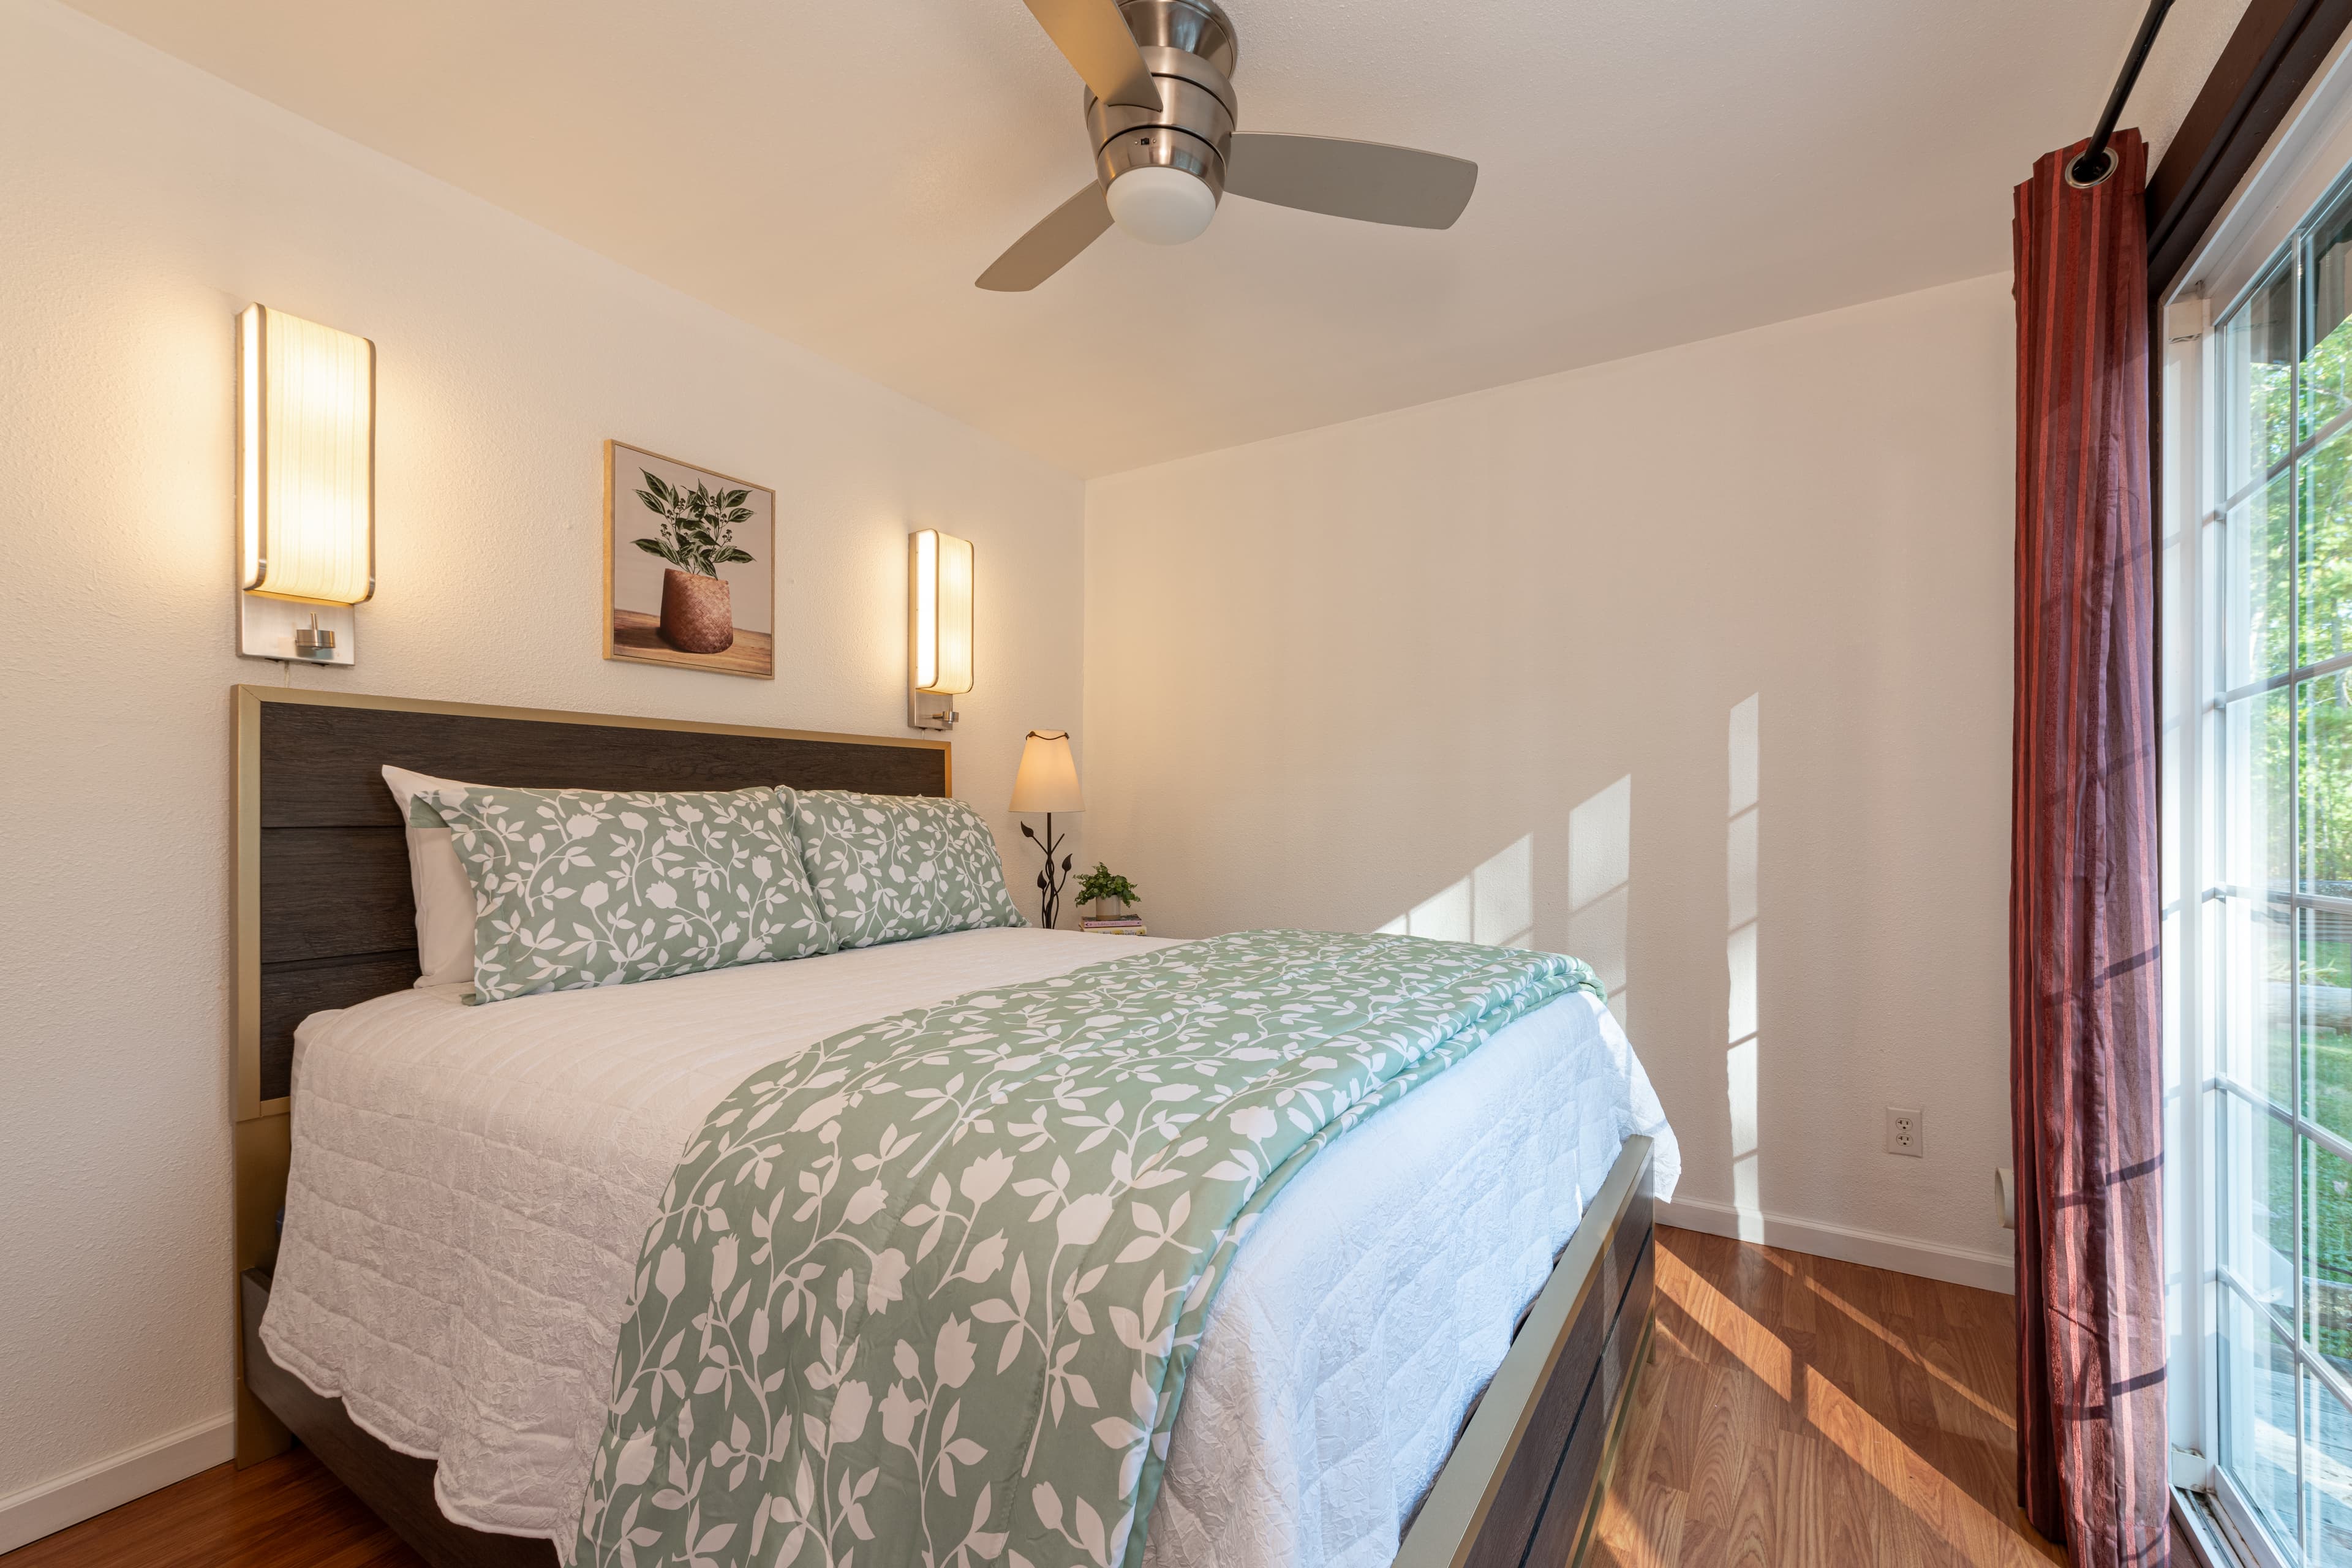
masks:
<svg viewBox="0 0 2352 1568"><path fill-rule="evenodd" d="M1463 221L1232 200L983 294L1089 179L1021 0L78 0L1080 475L2002 270L2143 12L1225 2L1244 129L1475 158ZM2169 139L2241 9L2173 7L2133 122Z"/></svg>

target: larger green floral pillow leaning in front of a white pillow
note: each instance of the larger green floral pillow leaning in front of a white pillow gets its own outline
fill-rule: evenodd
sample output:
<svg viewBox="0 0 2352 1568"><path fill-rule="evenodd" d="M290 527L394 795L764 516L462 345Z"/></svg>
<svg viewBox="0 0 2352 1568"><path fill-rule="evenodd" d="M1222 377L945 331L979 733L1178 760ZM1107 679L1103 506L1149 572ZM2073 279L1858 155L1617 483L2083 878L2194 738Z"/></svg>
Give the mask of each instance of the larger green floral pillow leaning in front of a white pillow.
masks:
<svg viewBox="0 0 2352 1568"><path fill-rule="evenodd" d="M421 790L473 884L477 1001L833 952L790 790Z"/></svg>

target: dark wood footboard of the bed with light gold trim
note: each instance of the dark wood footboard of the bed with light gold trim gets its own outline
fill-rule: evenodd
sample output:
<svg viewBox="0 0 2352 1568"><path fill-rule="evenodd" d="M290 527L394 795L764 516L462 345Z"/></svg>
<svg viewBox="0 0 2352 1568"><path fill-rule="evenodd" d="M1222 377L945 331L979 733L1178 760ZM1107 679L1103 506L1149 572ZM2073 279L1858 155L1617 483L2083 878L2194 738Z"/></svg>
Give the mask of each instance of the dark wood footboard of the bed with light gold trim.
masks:
<svg viewBox="0 0 2352 1568"><path fill-rule="evenodd" d="M1649 1354L1649 1161L1651 1140L1628 1138L1406 1528L1395 1568L1583 1559Z"/></svg>

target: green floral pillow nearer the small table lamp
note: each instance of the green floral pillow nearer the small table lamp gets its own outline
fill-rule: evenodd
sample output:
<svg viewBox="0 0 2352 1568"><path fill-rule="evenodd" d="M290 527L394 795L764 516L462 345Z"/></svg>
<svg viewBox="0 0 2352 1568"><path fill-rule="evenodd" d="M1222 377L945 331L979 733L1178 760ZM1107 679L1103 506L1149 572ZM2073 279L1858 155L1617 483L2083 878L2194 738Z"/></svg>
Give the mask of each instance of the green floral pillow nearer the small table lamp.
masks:
<svg viewBox="0 0 2352 1568"><path fill-rule="evenodd" d="M842 947L1028 924L995 835L960 799L802 790L793 823Z"/></svg>

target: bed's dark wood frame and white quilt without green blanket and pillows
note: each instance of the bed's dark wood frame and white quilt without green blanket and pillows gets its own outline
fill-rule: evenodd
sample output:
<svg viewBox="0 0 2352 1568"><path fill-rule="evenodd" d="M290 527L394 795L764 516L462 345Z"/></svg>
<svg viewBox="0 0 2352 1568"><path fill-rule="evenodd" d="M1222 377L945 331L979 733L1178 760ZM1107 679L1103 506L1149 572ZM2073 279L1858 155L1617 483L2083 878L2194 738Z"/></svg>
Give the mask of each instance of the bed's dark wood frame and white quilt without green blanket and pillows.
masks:
<svg viewBox="0 0 2352 1568"><path fill-rule="evenodd" d="M990 929L468 1009L386 945L407 889L379 764L946 795L946 745L261 689L238 726L240 1462L299 1434L435 1563L557 1559L647 1215L748 1072L1157 947ZM1590 997L1334 1140L1214 1305L1145 1563L1571 1561L1675 1164Z"/></svg>

